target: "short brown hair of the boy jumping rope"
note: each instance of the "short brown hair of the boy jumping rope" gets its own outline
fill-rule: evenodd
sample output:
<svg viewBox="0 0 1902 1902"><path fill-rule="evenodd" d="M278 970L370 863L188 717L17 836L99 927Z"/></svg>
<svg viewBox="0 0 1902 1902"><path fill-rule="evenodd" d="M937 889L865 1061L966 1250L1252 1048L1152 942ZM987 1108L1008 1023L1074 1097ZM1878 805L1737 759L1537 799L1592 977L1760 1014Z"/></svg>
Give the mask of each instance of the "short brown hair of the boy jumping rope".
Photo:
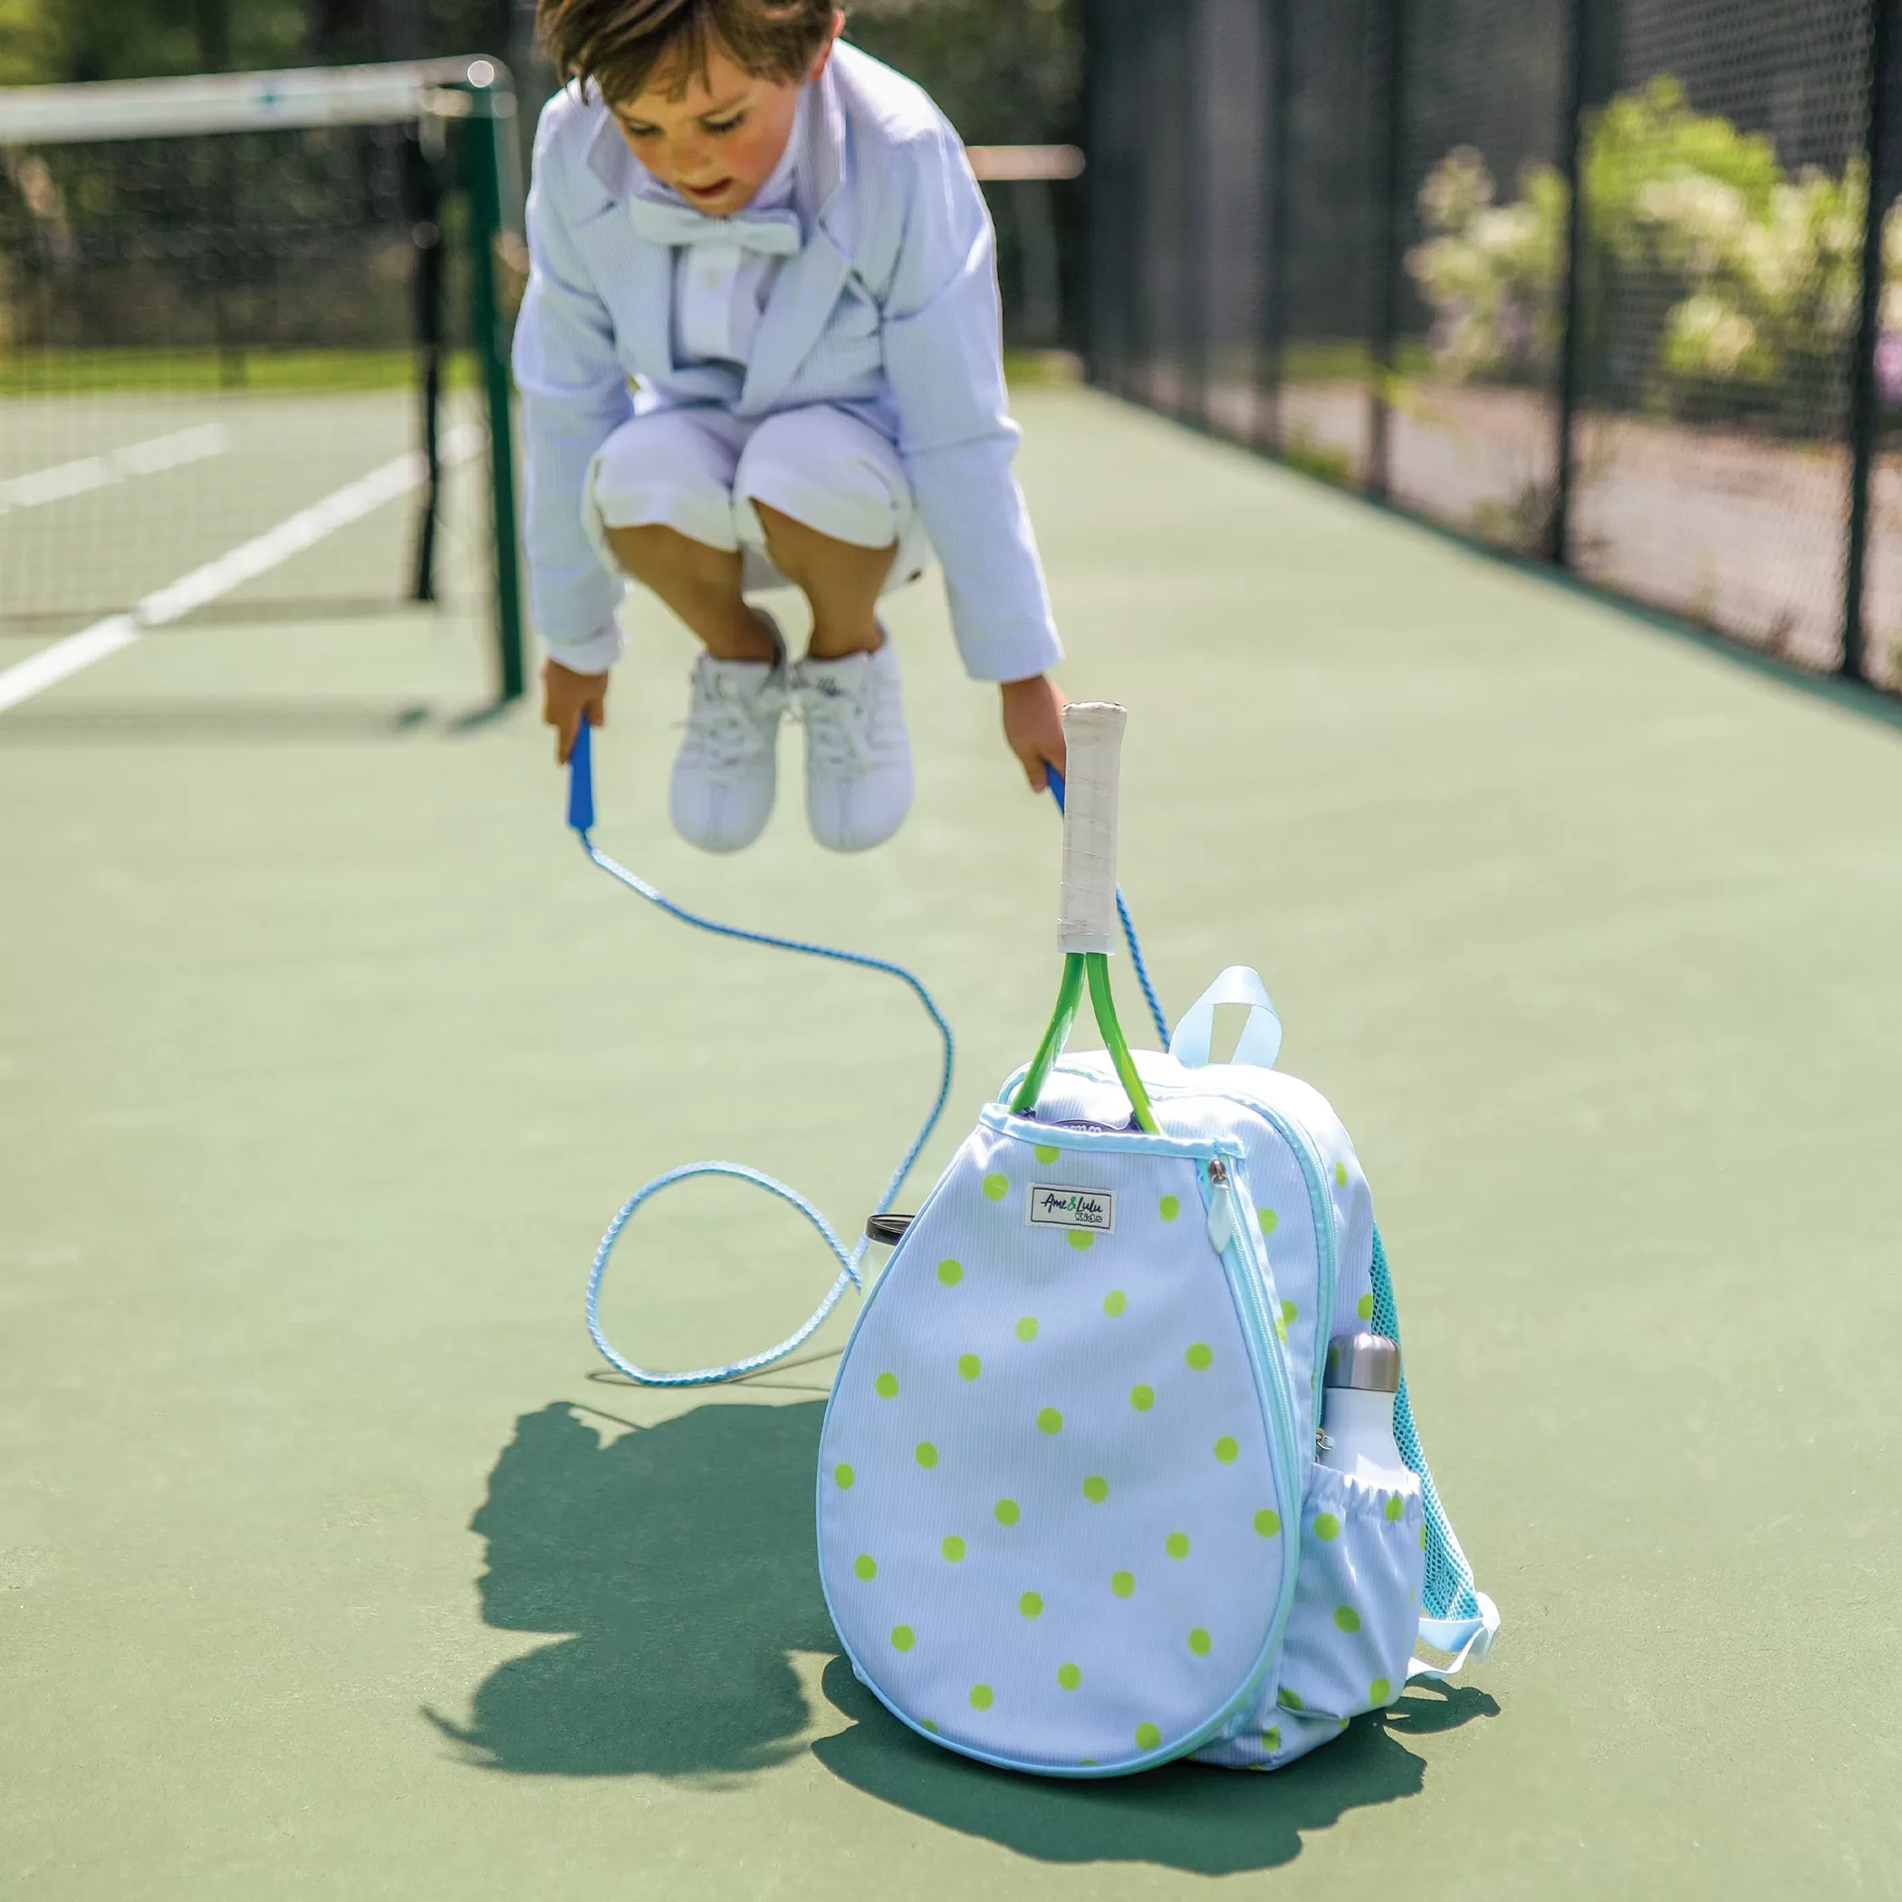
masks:
<svg viewBox="0 0 1902 1902"><path fill-rule="evenodd" d="M803 80L833 13L833 0L540 0L534 23L563 84L622 103L656 74L681 97L711 46L755 78Z"/></svg>

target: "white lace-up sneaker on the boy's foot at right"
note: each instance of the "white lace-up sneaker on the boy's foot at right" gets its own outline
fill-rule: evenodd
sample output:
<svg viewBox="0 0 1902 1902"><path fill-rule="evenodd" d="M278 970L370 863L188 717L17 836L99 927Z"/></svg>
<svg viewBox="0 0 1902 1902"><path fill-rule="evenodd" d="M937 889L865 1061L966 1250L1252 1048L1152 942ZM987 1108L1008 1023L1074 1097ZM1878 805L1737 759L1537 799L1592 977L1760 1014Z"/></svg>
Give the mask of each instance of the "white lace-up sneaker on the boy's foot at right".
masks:
<svg viewBox="0 0 1902 1902"><path fill-rule="evenodd" d="M911 742L886 637L871 654L806 656L791 671L806 727L806 820L833 852L883 844L911 810Z"/></svg>

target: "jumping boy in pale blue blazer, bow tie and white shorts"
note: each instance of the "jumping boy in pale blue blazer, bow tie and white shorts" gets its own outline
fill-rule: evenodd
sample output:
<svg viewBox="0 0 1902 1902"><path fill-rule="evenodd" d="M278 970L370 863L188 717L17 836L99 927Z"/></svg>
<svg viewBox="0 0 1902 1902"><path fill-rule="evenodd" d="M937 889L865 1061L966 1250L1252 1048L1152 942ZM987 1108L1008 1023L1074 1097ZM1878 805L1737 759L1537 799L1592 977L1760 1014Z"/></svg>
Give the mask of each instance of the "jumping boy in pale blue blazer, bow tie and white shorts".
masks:
<svg viewBox="0 0 1902 1902"><path fill-rule="evenodd" d="M1061 656L1010 472L991 221L957 133L839 44L831 0L542 0L515 331L544 719L599 727L624 578L698 635L670 808L709 852L772 814L780 717L839 852L911 806L881 595L936 553L966 671L1033 787L1063 765ZM631 388L630 388L631 384ZM793 584L789 660L746 599Z"/></svg>

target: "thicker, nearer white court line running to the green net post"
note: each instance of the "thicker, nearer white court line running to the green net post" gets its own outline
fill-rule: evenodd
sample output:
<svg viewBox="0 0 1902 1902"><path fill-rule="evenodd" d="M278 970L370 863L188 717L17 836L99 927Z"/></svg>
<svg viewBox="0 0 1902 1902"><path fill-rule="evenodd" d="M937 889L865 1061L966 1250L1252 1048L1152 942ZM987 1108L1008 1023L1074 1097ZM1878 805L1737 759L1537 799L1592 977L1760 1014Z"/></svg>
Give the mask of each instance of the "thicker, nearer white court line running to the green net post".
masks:
<svg viewBox="0 0 1902 1902"><path fill-rule="evenodd" d="M443 464L466 462L485 441L483 428L474 422L458 422L453 430L443 430L439 443ZM266 529L249 542L240 542L217 561L207 561L169 588L148 593L129 614L108 614L105 620L95 620L91 628L68 633L65 641L42 647L38 654L29 654L0 673L0 713L78 673L80 668L89 668L95 660L105 660L107 654L116 654L122 647L131 647L146 628L162 628L169 620L181 620L192 609L257 580L259 574L289 561L291 555L314 548L327 534L335 534L371 510L382 508L384 502L394 502L399 495L420 487L424 474L422 455L415 451L394 462L384 462L380 470L371 470L354 483L344 483L321 502L301 508L295 515L280 521L276 529Z"/></svg>

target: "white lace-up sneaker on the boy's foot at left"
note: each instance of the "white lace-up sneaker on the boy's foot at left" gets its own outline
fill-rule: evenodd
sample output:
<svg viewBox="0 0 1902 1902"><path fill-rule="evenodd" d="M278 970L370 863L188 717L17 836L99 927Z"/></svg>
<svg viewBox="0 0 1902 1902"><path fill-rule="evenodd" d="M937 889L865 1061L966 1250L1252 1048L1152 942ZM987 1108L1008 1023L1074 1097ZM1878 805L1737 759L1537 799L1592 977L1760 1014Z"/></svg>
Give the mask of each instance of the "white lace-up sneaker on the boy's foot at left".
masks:
<svg viewBox="0 0 1902 1902"><path fill-rule="evenodd" d="M673 829L704 852L738 852L772 818L780 778L784 660L694 662L687 738L673 757Z"/></svg>

